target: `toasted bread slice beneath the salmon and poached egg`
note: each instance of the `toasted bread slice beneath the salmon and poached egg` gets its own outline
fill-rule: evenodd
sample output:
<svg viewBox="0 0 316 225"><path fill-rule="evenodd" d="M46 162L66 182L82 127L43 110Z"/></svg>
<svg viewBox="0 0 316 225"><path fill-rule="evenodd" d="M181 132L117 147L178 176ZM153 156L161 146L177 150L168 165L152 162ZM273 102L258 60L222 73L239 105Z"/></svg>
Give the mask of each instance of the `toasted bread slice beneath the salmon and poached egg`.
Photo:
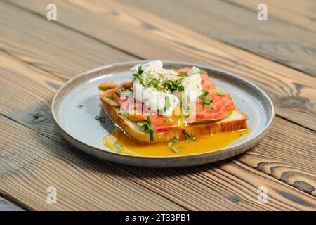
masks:
<svg viewBox="0 0 316 225"><path fill-rule="evenodd" d="M182 127L175 127L168 131L154 133L154 141L150 141L150 136L140 129L140 127L124 115L119 113L119 108L115 108L113 105L116 103L103 95L103 91L99 91L100 99L107 114L112 120L125 132L126 135L135 139L138 142L158 143L169 142L173 137L179 136L180 139L184 139L182 133ZM192 136L201 136L206 134L216 134L225 131L237 131L247 128L247 117L240 110L233 111L227 118L218 122L211 122L206 124L192 124L185 127L185 131L189 132Z"/></svg>

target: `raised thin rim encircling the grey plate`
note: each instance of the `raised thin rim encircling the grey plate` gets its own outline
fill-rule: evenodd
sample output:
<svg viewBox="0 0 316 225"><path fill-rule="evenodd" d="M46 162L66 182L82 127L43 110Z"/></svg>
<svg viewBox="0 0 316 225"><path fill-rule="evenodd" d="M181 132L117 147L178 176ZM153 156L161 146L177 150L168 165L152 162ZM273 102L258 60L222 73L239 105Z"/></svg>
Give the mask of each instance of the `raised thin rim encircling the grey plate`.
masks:
<svg viewBox="0 0 316 225"><path fill-rule="evenodd" d="M53 97L53 101L51 103L51 115L52 115L53 120L54 120L55 124L57 125L58 129L60 129L60 131L62 131L63 134L67 134L67 136L69 136L74 141L78 141L81 145L84 145L84 146L86 146L88 148L93 148L93 150L96 150L96 151L98 151L100 153L106 153L106 154L110 154L110 155L114 155L114 156L118 156L118 157L138 158L138 159L159 159L159 160L162 160L162 159L167 159L167 158L168 159L176 159L176 158L205 157L205 156L211 155L213 153L229 152L230 150L233 150L234 148L237 148L237 147L241 148L242 146L246 145L246 143L251 143L251 141L254 141L256 139L260 139L261 136L265 136L265 134L267 134L268 131L270 130L270 128L272 127L273 121L275 120L275 106L274 106L270 96L268 96L268 94L266 94L265 91L263 91L263 89L261 89L259 86L257 86L253 82L250 82L248 79L240 77L239 75L236 75L236 74L234 74L232 72L228 72L226 70L222 70L222 69L219 69L219 68L213 68L213 67L208 66L208 65L202 65L202 64L199 64L199 63L189 63L189 62L177 61L177 60L162 60L163 63L174 63L174 64L179 64L179 65L181 65L181 64L182 65L195 65L196 67L208 68L209 70L213 70L213 71L220 72L220 73L225 73L226 75L229 75L230 77L234 77L237 80L238 79L242 80L242 82L244 82L246 84L250 84L255 89L260 91L261 94L263 94L263 96L268 100L268 103L269 103L269 105L271 107L271 117L270 117L270 119L266 122L265 127L260 132L258 132L258 134L253 136L251 139L245 140L242 143L238 143L238 144L233 145L233 146L229 146L229 147L226 146L225 148L212 150L210 152L194 153L194 154L190 154L190 155L166 155L166 156L148 156L148 155L146 155L146 156L143 156L143 155L129 155L129 154L126 154L126 153L116 153L114 151L111 151L110 149L109 150L103 150L103 149L91 146L88 143L84 143L83 141L80 141L79 139L75 138L74 136L72 136L72 134L70 134L69 132L67 132L65 129L62 128L62 125L60 124L60 122L58 120L58 117L56 115L57 112L55 113L55 104L56 104L58 95L61 93L61 91L63 89L65 89L65 87L68 84L73 82L75 79L79 79L79 77L83 77L84 75L90 74L91 72L97 72L97 71L100 71L100 70L105 70L107 68L113 68L115 66L120 66L120 65L129 65L129 64L134 64L135 65L135 64L138 64L138 63L147 63L149 61L152 61L152 60L131 60L131 61L124 61L124 62L119 62L119 63L111 63L111 64L108 64L108 65L102 65L100 67L92 68L90 70L86 70L84 72L81 72L79 75L76 75L75 77L72 77L72 79L67 80L67 82L65 82L65 84L60 86L60 89L58 89L58 91L55 93L55 96ZM64 135L62 135L62 136L64 136ZM244 150L244 151L246 151L246 150ZM244 151L242 151L241 153L244 153ZM240 154L240 153L238 153L238 154Z"/></svg>

